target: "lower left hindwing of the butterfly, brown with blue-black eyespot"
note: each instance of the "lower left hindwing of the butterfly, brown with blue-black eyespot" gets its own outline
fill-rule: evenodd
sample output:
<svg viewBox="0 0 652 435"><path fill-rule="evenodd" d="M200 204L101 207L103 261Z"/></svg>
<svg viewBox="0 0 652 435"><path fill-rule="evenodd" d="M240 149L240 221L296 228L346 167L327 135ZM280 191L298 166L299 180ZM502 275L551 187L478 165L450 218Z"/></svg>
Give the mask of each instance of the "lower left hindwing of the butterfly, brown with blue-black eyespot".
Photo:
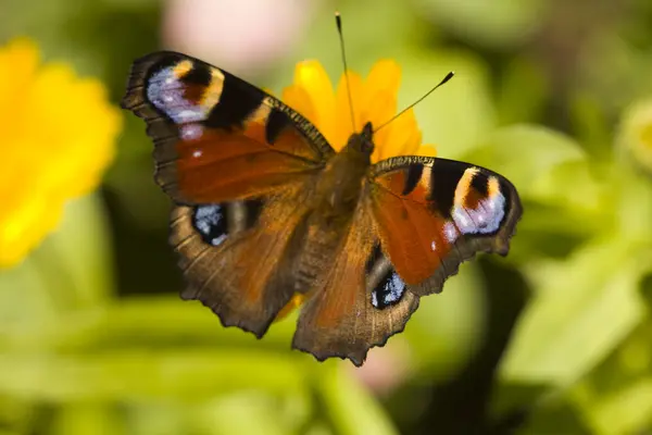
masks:
<svg viewBox="0 0 652 435"><path fill-rule="evenodd" d="M293 295L288 263L308 211L299 187L263 199L176 207L171 244L187 284L181 297L200 300L225 326L263 336Z"/></svg>

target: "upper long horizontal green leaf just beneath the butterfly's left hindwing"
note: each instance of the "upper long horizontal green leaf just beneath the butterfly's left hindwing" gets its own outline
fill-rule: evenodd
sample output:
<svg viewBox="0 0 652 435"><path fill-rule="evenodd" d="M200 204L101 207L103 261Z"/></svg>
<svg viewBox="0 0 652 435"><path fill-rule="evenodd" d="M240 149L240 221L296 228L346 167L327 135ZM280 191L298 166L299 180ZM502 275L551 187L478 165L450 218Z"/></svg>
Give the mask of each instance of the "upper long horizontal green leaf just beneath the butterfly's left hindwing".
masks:
<svg viewBox="0 0 652 435"><path fill-rule="evenodd" d="M275 323L265 339L236 327L223 327L201 303L184 302L177 296L133 297L105 308L68 313L47 328L33 327L0 334L0 345L23 352L110 351L147 346L255 346L289 350L297 313ZM297 356L303 353L296 352Z"/></svg>

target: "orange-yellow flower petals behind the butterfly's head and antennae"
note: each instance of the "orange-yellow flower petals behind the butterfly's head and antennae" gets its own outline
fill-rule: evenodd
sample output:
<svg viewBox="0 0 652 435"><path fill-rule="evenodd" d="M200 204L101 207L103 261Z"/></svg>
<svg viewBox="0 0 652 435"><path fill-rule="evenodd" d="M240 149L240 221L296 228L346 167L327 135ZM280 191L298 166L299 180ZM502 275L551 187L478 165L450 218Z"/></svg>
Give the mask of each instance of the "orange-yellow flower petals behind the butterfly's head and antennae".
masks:
<svg viewBox="0 0 652 435"><path fill-rule="evenodd" d="M397 113L401 70L391 60L378 61L366 79L348 71L353 100L355 133L366 122L374 128ZM339 151L353 132L351 109L347 94L346 76L342 74L334 91L328 75L317 61L304 61L294 69L294 83L284 89L283 100L303 114L322 132L330 145ZM422 145L422 133L411 109L374 135L376 149L372 162L393 156L435 156L432 146Z"/></svg>

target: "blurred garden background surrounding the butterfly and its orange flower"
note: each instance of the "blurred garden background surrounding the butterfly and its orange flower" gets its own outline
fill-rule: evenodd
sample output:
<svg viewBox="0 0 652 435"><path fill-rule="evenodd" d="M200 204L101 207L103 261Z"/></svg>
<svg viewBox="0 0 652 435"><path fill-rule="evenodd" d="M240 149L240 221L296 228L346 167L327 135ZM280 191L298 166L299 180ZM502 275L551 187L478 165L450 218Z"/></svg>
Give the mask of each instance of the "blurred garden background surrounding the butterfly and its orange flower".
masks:
<svg viewBox="0 0 652 435"><path fill-rule="evenodd" d="M297 62L402 69L438 156L518 188L506 259L422 299L366 364L183 302L135 58L279 95ZM40 53L40 54L39 54ZM40 58L39 58L40 57ZM3 0L0 434L652 434L650 0Z"/></svg>

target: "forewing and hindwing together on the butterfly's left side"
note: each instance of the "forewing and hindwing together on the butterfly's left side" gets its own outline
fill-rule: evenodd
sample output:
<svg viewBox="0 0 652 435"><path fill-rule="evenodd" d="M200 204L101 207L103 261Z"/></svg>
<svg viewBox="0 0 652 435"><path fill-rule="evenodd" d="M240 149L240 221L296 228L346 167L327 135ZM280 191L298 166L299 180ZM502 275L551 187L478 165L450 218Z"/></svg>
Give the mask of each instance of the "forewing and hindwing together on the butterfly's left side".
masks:
<svg viewBox="0 0 652 435"><path fill-rule="evenodd" d="M292 297L285 263L310 181L335 151L274 97L180 53L137 60L122 104L147 122L155 181L177 202L181 296L262 336Z"/></svg>

